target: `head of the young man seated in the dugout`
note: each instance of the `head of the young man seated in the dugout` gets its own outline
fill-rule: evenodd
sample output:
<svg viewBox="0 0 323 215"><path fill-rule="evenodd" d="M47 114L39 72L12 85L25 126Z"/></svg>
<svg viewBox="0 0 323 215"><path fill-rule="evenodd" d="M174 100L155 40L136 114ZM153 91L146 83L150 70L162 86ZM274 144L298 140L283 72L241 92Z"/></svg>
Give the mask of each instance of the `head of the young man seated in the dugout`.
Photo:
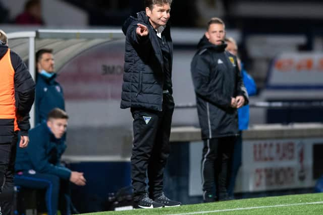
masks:
<svg viewBox="0 0 323 215"><path fill-rule="evenodd" d="M54 108L47 115L47 126L56 138L62 138L67 128L67 120L69 116L60 109Z"/></svg>

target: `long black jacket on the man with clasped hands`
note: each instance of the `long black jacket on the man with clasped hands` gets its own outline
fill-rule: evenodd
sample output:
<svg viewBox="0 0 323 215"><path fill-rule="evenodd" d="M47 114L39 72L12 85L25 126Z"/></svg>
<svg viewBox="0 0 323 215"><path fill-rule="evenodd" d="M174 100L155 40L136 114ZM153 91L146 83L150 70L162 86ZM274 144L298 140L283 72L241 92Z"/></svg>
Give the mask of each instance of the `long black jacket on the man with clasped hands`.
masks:
<svg viewBox="0 0 323 215"><path fill-rule="evenodd" d="M191 63L202 139L238 135L238 114L231 98L244 96L248 103L237 59L225 51L226 46L213 45L204 36Z"/></svg>

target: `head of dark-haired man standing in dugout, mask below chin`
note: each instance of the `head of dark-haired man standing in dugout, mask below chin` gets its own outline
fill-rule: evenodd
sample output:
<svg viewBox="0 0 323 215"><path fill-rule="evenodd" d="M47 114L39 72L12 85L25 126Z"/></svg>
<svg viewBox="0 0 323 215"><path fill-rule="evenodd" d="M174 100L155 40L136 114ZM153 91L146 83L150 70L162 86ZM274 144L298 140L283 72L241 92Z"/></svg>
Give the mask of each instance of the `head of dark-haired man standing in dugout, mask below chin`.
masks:
<svg viewBox="0 0 323 215"><path fill-rule="evenodd" d="M47 73L53 73L54 63L52 49L40 49L36 52L36 66L38 73L40 73L42 69Z"/></svg>

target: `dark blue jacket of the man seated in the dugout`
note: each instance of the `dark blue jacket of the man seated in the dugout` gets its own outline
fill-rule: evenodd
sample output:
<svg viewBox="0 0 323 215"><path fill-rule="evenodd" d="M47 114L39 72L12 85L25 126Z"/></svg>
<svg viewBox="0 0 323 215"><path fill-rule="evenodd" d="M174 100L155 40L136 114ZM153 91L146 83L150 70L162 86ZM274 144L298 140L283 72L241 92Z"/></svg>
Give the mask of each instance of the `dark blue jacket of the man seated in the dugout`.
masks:
<svg viewBox="0 0 323 215"><path fill-rule="evenodd" d="M55 138L47 124L41 123L29 130L29 139L28 147L17 146L16 172L32 169L69 180L71 171L60 165L61 156L66 149L63 138Z"/></svg>

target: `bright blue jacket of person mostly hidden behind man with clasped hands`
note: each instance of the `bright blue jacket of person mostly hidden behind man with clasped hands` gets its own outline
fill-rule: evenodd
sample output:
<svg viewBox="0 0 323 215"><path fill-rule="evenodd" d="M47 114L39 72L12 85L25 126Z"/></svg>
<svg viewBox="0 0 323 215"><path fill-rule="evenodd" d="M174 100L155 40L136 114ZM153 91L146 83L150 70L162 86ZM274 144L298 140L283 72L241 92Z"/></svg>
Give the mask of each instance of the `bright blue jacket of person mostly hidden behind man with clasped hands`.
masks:
<svg viewBox="0 0 323 215"><path fill-rule="evenodd" d="M243 84L247 89L248 95L253 96L257 92L256 84L253 81L252 77L247 73L247 71L243 68L243 64L241 64L241 76L243 80ZM249 105L242 106L238 109L238 123L239 130L248 129L249 125Z"/></svg>

